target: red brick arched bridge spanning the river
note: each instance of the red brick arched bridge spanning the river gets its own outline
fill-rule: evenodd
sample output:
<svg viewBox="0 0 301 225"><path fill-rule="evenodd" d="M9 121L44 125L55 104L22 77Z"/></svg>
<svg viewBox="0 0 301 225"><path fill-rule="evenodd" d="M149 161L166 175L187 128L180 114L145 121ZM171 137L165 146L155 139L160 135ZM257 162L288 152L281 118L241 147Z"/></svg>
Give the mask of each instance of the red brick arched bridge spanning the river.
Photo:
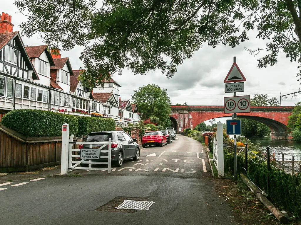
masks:
<svg viewBox="0 0 301 225"><path fill-rule="evenodd" d="M251 113L237 113L237 118L253 119L267 125L272 132L272 138L290 139L287 134L288 116L292 114L293 106L251 106ZM176 131L178 128L191 128L209 119L231 117L224 113L224 106L171 106L170 120Z"/></svg>

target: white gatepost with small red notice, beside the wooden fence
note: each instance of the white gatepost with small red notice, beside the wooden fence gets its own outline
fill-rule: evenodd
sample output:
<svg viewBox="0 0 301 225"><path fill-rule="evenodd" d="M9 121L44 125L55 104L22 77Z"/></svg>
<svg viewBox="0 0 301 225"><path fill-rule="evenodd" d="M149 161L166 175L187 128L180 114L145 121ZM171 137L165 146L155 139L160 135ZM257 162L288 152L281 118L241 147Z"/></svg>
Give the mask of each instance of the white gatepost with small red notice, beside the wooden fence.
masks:
<svg viewBox="0 0 301 225"><path fill-rule="evenodd" d="M64 123L62 127L61 175L68 173L68 155L69 155L69 124Z"/></svg>

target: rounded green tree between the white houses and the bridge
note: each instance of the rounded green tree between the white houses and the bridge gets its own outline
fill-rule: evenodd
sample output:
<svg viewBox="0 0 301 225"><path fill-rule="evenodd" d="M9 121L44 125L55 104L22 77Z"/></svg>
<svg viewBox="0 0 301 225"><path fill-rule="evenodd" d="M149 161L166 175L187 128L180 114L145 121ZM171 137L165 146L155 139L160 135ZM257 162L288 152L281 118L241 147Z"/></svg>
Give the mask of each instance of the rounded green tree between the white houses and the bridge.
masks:
<svg viewBox="0 0 301 225"><path fill-rule="evenodd" d="M134 90L132 103L137 104L139 112L143 112L144 118L156 119L156 123L166 123L169 121L171 111L171 101L167 95L166 89L160 88L155 84L148 84Z"/></svg>

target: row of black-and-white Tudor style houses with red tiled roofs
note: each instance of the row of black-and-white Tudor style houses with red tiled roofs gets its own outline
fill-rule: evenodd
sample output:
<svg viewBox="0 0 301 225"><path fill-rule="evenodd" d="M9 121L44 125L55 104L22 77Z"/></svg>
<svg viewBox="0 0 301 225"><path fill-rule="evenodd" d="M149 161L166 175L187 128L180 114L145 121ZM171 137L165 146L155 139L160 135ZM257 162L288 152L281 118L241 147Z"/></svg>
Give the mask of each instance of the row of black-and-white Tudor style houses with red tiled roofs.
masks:
<svg viewBox="0 0 301 225"><path fill-rule="evenodd" d="M121 101L113 78L104 88L96 84L90 91L73 70L68 57L47 45L24 46L19 32L13 32L11 16L0 16L0 121L14 109L39 109L75 116L95 115L113 118L116 124L140 121L137 107ZM93 115L93 114L92 114Z"/></svg>

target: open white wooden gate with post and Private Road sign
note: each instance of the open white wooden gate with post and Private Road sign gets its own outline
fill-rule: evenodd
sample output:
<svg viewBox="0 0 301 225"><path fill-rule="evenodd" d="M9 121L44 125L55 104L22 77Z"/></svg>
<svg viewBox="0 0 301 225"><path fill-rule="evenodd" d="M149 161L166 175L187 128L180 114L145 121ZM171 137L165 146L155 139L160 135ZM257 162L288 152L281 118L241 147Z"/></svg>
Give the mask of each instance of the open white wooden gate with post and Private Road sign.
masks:
<svg viewBox="0 0 301 225"><path fill-rule="evenodd" d="M61 174L67 174L68 171L72 170L107 170L108 173L111 172L111 139L108 142L73 142L74 135L71 134L69 138L69 125L67 123L63 124L62 131L62 160L61 160ZM89 149L73 149L73 145L89 145ZM93 148L92 145L99 145L101 147ZM104 149L104 147L108 149ZM95 151L95 160L96 159L107 159L106 161L92 161L92 159L81 159L81 151L86 150L89 152ZM99 155L103 152L107 152L108 155ZM94 153L92 153L94 154ZM94 157L94 156L93 156ZM86 157L83 157L86 158ZM75 160L77 159L77 160ZM80 164L88 164L88 167L81 167ZM92 167L92 165L107 165L107 167Z"/></svg>

